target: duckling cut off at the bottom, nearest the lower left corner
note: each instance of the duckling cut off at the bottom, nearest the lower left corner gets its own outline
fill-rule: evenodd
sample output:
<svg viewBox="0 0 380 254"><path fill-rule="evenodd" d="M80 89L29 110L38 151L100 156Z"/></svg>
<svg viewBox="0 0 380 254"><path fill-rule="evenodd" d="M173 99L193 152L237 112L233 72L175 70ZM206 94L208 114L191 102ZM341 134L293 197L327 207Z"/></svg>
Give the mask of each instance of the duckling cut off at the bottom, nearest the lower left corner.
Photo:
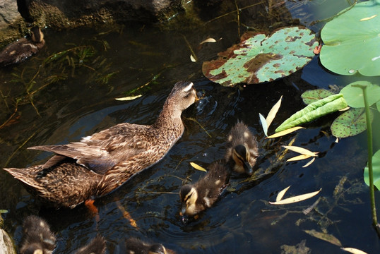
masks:
<svg viewBox="0 0 380 254"><path fill-rule="evenodd" d="M55 248L55 242L56 238L44 219L35 215L24 219L20 254L50 254Z"/></svg>

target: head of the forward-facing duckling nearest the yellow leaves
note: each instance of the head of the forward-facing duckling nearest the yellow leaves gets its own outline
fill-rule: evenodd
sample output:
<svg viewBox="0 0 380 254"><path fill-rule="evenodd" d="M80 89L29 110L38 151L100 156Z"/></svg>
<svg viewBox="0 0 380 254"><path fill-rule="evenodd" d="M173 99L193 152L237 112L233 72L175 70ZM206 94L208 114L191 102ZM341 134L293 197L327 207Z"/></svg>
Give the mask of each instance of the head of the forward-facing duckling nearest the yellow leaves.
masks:
<svg viewBox="0 0 380 254"><path fill-rule="evenodd" d="M234 171L237 173L246 173L249 176L254 173L252 168L256 162L256 157L252 156L245 145L237 145L232 150L232 159L234 161Z"/></svg>

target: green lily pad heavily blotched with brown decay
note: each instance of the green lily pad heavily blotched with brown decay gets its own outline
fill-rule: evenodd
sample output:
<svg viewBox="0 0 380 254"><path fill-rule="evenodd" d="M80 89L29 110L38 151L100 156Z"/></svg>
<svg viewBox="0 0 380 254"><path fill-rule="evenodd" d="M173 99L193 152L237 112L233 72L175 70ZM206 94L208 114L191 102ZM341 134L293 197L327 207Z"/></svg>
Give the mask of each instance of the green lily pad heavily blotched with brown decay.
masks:
<svg viewBox="0 0 380 254"><path fill-rule="evenodd" d="M219 58L205 61L203 74L224 86L256 84L282 78L299 70L314 56L318 45L311 30L299 26L275 30L271 35L246 32Z"/></svg>

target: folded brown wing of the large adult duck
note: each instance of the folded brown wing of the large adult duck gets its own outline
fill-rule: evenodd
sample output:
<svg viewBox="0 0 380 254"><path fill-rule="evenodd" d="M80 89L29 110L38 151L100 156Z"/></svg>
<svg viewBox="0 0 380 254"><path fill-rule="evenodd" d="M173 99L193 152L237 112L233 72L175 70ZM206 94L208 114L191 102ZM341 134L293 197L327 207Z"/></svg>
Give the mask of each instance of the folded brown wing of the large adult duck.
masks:
<svg viewBox="0 0 380 254"><path fill-rule="evenodd" d="M28 149L54 152L44 168L52 167L65 157L76 159L76 163L95 171L105 172L119 162L126 161L150 146L150 126L119 123L99 133L82 138L80 142L66 145L39 145Z"/></svg>

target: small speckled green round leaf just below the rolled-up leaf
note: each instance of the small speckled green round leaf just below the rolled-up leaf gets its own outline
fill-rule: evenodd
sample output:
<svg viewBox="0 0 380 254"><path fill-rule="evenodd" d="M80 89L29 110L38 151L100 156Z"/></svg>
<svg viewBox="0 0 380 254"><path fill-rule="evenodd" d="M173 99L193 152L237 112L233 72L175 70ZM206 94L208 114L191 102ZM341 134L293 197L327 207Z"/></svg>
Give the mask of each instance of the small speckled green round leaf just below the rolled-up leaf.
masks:
<svg viewBox="0 0 380 254"><path fill-rule="evenodd" d="M371 121L374 115L370 112ZM363 108L350 109L338 116L331 124L331 133L337 138L347 138L362 133L367 129Z"/></svg>

